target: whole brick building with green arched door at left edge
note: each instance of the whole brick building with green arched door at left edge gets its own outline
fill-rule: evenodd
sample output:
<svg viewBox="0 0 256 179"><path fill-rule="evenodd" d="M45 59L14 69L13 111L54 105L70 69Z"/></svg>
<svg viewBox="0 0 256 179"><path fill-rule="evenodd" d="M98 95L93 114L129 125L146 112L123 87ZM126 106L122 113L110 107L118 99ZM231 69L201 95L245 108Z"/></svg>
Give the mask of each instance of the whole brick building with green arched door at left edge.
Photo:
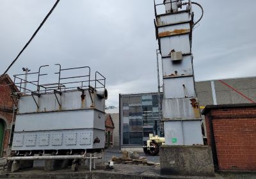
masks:
<svg viewBox="0 0 256 179"><path fill-rule="evenodd" d="M15 100L11 97L12 92L19 91L13 84L12 79L6 74L0 79L0 157L6 156L9 141L12 143L11 130L15 124ZM13 113L14 112L14 113ZM11 138L11 139L10 139Z"/></svg>

